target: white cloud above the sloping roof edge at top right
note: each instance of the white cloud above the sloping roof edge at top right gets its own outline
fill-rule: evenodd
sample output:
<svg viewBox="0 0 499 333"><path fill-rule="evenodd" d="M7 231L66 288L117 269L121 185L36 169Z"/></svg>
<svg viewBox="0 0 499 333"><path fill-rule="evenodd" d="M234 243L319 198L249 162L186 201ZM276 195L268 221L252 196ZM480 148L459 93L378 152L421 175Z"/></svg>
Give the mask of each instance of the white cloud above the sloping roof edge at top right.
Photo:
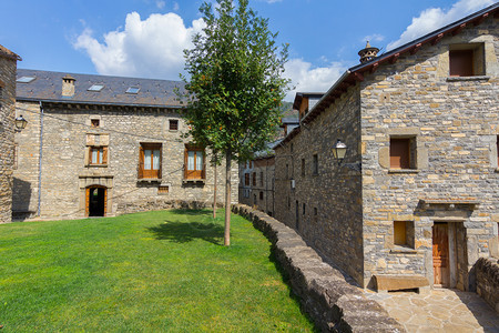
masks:
<svg viewBox="0 0 499 333"><path fill-rule="evenodd" d="M470 13L473 13L487 6L492 4L493 0L459 0L449 10L441 8L428 8L419 17L413 18L413 23L407 27L400 38L390 42L388 50L400 47L411 40L425 36L434 30L442 28L454 21L457 21Z"/></svg>

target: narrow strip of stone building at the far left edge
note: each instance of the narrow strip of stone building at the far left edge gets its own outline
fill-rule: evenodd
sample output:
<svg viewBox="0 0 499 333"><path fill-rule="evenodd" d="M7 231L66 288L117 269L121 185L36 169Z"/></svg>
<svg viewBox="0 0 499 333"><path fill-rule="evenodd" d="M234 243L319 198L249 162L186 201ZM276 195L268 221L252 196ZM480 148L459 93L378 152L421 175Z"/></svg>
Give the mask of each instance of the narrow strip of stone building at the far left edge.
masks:
<svg viewBox="0 0 499 333"><path fill-rule="evenodd" d="M0 223L12 215L14 168L16 68L21 58L0 46Z"/></svg>

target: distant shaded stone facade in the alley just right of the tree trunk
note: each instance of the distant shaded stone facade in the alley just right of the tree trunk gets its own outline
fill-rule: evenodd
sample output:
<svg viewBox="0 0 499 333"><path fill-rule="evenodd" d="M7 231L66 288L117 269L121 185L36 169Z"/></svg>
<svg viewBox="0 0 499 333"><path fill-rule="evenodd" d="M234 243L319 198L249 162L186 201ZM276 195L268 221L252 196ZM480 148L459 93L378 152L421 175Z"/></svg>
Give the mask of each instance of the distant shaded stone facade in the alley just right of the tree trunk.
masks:
<svg viewBox="0 0 499 333"><path fill-rule="evenodd" d="M240 202L268 215L275 212L275 158L240 163Z"/></svg>

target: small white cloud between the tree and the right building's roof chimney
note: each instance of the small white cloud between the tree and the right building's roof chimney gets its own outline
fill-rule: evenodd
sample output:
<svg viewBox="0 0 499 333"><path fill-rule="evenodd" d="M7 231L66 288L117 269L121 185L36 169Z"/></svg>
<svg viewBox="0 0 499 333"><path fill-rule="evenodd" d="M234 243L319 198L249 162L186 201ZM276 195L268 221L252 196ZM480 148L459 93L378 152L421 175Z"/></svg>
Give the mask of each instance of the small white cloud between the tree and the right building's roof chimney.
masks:
<svg viewBox="0 0 499 333"><path fill-rule="evenodd" d="M332 62L328 67L313 68L310 62L303 59L291 59L285 69L284 75L292 80L292 87L295 88L288 92L286 100L293 101L297 91L326 92L347 67L340 62Z"/></svg>

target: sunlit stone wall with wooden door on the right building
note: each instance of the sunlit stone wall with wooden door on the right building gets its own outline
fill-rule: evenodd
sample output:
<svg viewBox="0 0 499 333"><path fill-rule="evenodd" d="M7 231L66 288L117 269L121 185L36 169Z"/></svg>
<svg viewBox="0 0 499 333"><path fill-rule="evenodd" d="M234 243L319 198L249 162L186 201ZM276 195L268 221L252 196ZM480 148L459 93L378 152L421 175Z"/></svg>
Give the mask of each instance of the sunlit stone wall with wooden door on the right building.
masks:
<svg viewBox="0 0 499 333"><path fill-rule="evenodd" d="M468 24L359 83L365 285L373 274L419 274L432 284L432 225L444 222L455 248L450 286L473 289L471 269L489 255L499 219L497 22ZM481 48L485 75L450 78L449 49L467 44ZM390 169L390 138L413 140L411 169ZM394 244L394 221L407 222L413 241Z"/></svg>

